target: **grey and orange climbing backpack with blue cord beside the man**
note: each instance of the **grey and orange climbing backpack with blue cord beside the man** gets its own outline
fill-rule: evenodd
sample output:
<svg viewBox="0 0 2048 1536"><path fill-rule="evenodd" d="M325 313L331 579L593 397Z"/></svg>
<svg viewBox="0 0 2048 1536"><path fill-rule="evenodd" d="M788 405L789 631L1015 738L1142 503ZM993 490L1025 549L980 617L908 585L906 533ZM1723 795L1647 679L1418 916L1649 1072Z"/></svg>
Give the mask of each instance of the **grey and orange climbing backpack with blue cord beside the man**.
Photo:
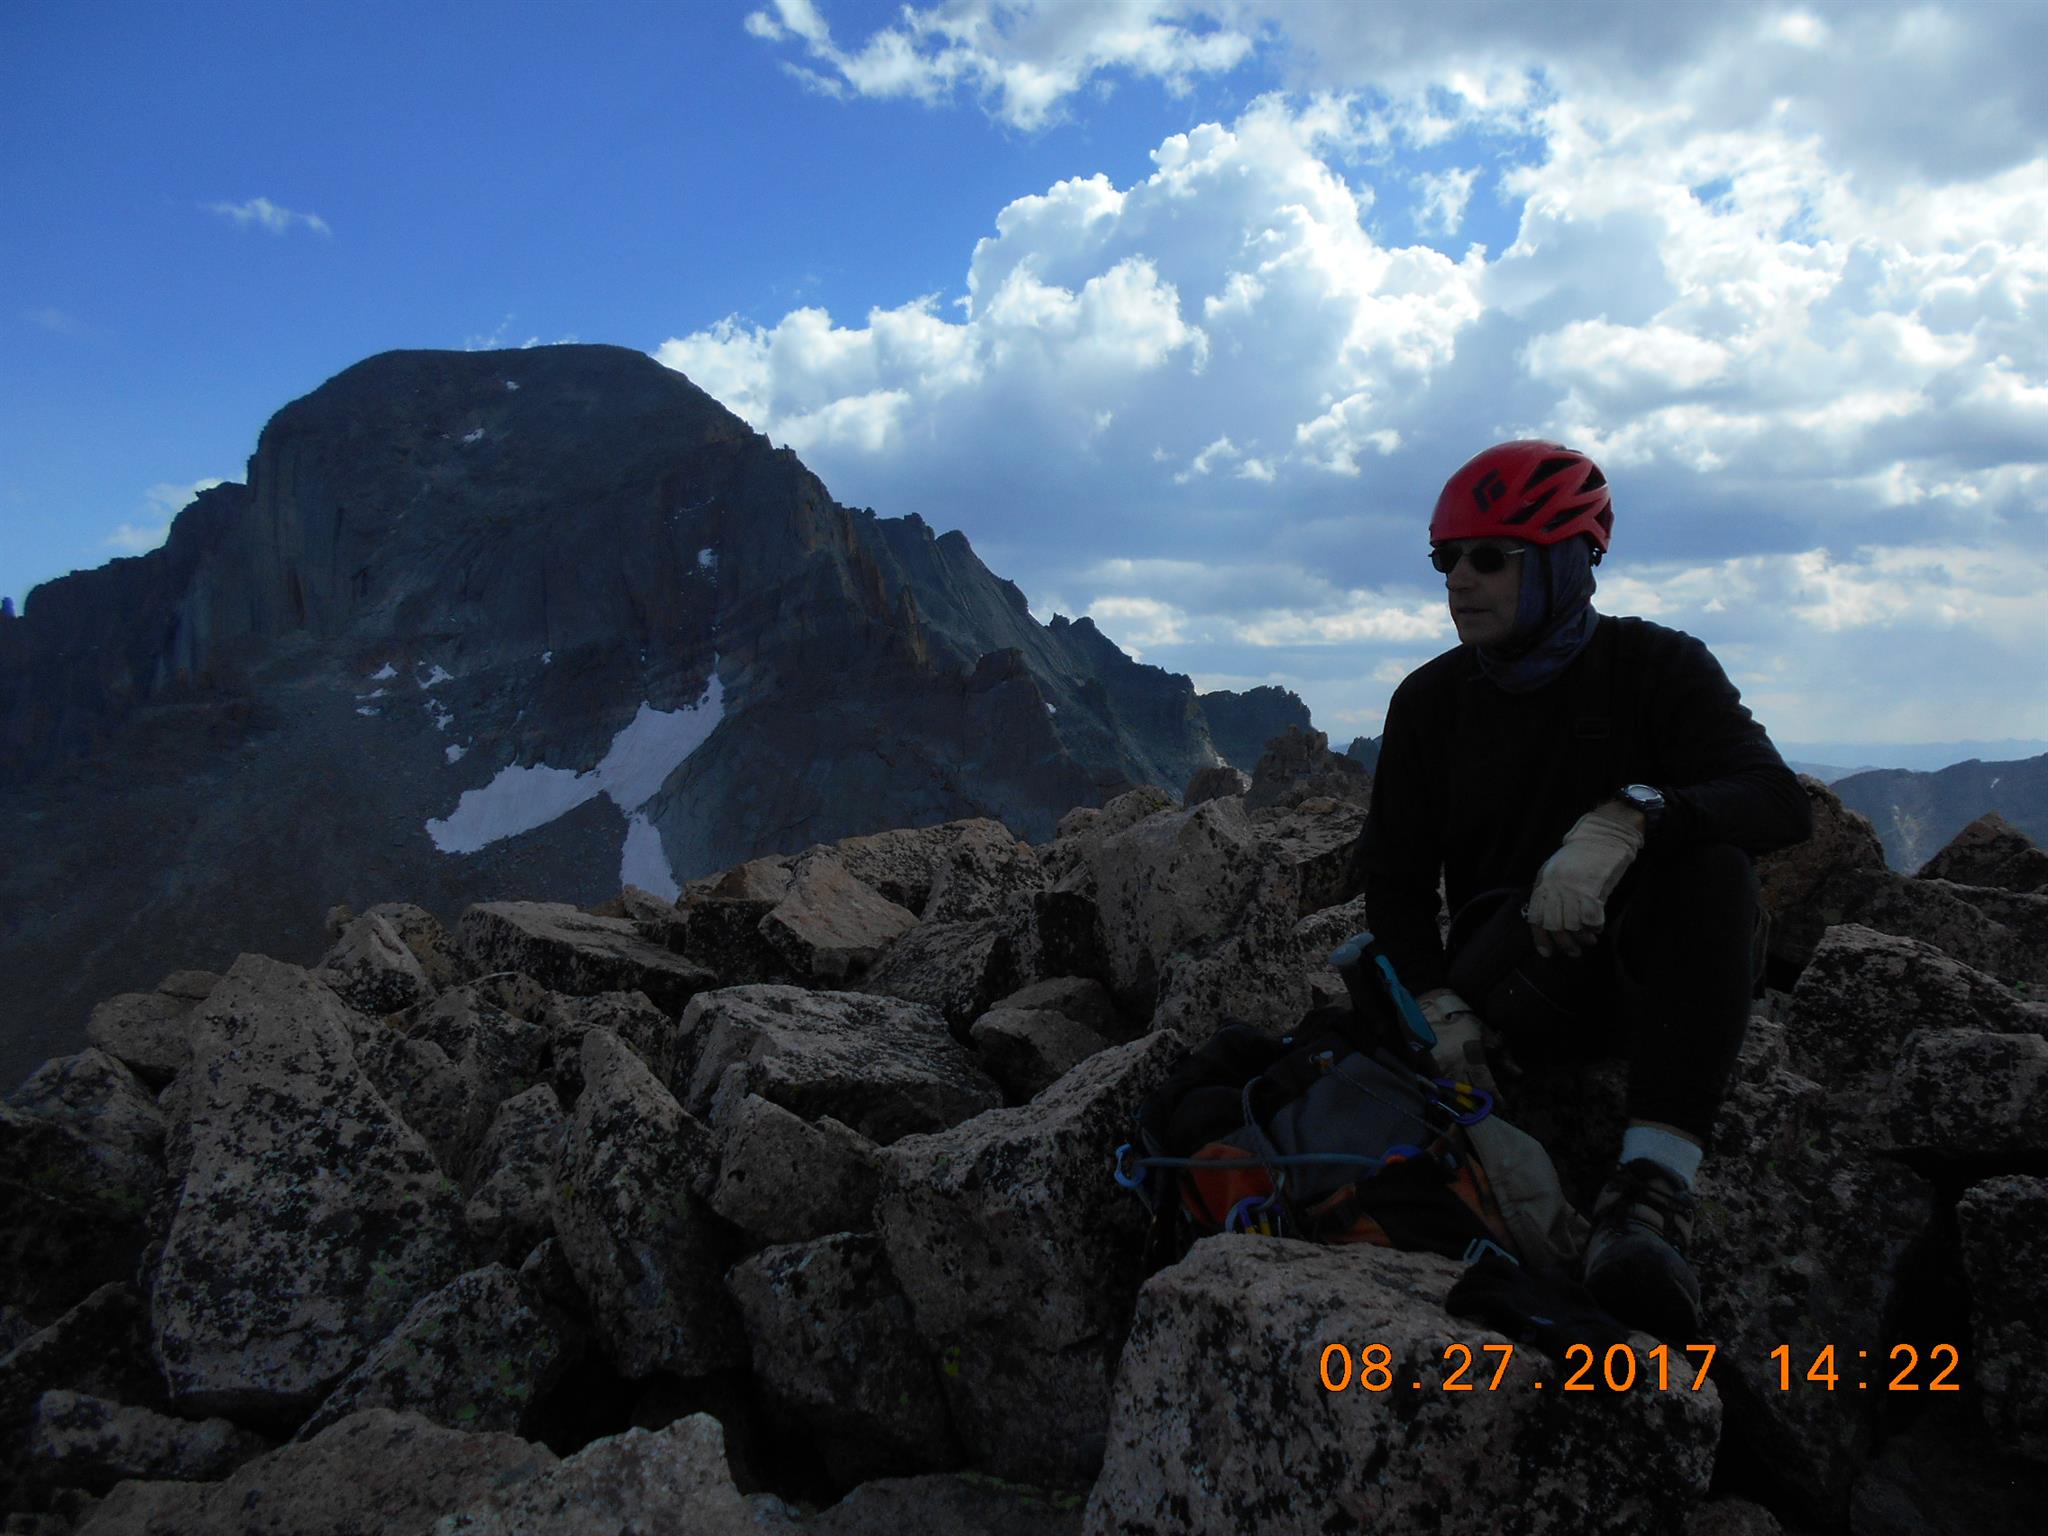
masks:
<svg viewBox="0 0 2048 1536"><path fill-rule="evenodd" d="M1434 1034L1370 934L1331 961L1350 1012L1288 1036L1225 1022L1139 1108L1116 1182L1153 1212L1147 1270L1212 1233L1569 1268L1585 1223L1542 1147L1432 1075Z"/></svg>

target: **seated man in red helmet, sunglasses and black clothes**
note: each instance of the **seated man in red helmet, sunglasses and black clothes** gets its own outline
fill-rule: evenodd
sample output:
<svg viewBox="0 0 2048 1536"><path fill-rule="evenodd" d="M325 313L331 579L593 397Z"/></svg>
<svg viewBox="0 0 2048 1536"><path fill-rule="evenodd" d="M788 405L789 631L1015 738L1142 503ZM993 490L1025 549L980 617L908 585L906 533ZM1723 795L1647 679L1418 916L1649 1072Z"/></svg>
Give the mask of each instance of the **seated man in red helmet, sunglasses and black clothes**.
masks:
<svg viewBox="0 0 2048 1536"><path fill-rule="evenodd" d="M1761 975L1751 856L1812 821L1698 639L1593 612L1612 526L1606 477L1556 442L1487 449L1444 485L1430 561L1460 645L1386 709L1354 889L1452 1077L1491 1081L1475 1004L1524 1055L1626 1053L1585 1284L1622 1321L1696 1339L1694 1178Z"/></svg>

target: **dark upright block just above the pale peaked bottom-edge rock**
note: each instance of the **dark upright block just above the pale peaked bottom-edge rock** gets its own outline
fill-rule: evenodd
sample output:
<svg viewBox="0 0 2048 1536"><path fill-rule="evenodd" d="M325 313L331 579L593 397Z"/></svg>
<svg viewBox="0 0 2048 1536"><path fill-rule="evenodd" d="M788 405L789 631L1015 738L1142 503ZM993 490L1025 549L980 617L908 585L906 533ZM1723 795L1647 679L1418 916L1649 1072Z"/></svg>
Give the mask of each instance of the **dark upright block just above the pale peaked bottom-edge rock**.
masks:
<svg viewBox="0 0 2048 1536"><path fill-rule="evenodd" d="M727 1278L748 1319L754 1378L784 1432L834 1483L958 1460L932 1356L870 1233L756 1253Z"/></svg>

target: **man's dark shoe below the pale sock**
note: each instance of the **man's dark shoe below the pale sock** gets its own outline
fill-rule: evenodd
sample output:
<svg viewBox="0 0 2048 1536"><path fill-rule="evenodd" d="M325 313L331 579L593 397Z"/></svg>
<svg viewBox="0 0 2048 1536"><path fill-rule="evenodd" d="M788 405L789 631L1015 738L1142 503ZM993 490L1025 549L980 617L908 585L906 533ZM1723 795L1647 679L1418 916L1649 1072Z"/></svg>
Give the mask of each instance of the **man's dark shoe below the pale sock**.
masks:
<svg viewBox="0 0 2048 1536"><path fill-rule="evenodd" d="M1599 1305L1677 1343L1700 1341L1700 1280L1686 1262L1696 1204L1677 1174L1638 1157L1599 1192L1585 1239L1585 1288Z"/></svg>

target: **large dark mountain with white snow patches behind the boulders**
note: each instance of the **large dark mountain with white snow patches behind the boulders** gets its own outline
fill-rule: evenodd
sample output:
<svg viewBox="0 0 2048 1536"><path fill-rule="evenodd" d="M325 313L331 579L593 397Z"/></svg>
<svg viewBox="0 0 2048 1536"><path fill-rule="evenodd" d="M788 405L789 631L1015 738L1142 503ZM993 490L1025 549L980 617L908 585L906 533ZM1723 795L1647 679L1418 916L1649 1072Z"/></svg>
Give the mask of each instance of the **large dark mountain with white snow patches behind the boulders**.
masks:
<svg viewBox="0 0 2048 1536"><path fill-rule="evenodd" d="M1300 700L1210 696L1253 766ZM1040 625L614 346L389 352L139 559L0 618L0 1075L336 901L594 903L885 827L1180 791L1184 676Z"/></svg>

